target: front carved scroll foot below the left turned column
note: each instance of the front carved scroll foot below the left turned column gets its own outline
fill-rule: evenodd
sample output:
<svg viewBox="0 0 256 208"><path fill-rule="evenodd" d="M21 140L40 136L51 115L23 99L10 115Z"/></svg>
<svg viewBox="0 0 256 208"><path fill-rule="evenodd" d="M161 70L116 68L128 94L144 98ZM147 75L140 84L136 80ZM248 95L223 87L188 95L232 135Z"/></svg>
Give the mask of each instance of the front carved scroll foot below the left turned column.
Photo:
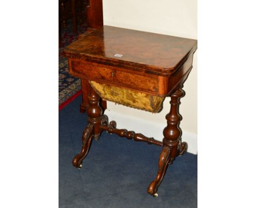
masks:
<svg viewBox="0 0 256 208"><path fill-rule="evenodd" d="M82 142L83 142L82 150L80 154L75 155L72 161L73 166L76 168L82 168L82 162L89 152L92 138L93 138L93 134L92 134L93 128L94 126L90 123L88 124L88 126L85 127L85 130L82 136Z"/></svg>

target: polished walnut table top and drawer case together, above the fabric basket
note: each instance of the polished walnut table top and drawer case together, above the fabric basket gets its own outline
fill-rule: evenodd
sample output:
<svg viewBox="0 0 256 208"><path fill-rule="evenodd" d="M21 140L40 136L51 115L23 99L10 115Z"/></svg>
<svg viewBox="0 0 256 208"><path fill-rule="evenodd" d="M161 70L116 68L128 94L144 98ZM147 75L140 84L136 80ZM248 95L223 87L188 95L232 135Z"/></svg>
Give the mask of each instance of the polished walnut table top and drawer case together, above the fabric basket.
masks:
<svg viewBox="0 0 256 208"><path fill-rule="evenodd" d="M188 77L196 47L192 39L104 26L69 45L65 56L74 76L170 96Z"/></svg>

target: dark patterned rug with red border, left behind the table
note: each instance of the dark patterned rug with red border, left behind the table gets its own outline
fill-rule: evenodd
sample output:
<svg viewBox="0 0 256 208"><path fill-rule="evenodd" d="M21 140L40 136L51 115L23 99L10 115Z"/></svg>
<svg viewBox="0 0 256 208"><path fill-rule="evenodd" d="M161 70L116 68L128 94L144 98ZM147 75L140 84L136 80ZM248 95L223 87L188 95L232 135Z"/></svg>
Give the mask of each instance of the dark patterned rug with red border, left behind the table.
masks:
<svg viewBox="0 0 256 208"><path fill-rule="evenodd" d="M68 61L63 56L63 48L78 39L78 36L85 33L86 24L78 25L78 32L73 32L71 21L67 21L66 28L61 28L62 47L59 48L59 111L69 102L81 94L80 79L73 77L68 72Z"/></svg>

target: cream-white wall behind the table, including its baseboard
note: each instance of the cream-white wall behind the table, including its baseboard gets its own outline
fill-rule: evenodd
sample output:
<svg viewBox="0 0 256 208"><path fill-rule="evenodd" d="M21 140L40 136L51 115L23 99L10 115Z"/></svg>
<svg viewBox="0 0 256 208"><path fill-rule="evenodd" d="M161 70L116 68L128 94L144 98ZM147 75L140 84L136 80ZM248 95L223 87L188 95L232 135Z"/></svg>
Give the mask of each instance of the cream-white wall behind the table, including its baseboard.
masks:
<svg viewBox="0 0 256 208"><path fill-rule="evenodd" d="M103 20L104 25L197 39L197 0L103 0ZM180 106L183 117L180 125L183 130L182 139L189 143L188 151L196 153L197 52L194 54L193 69L183 89L186 95L181 99ZM158 114L115 105L112 102L108 102L109 111L106 113L110 120L117 121L118 128L125 127L162 140L162 129L166 126L165 115L170 111L169 101L170 97L167 97L164 108ZM124 123L122 119L126 115L137 122ZM145 124L147 126L142 127ZM161 130L152 131L155 126L159 126L158 129Z"/></svg>

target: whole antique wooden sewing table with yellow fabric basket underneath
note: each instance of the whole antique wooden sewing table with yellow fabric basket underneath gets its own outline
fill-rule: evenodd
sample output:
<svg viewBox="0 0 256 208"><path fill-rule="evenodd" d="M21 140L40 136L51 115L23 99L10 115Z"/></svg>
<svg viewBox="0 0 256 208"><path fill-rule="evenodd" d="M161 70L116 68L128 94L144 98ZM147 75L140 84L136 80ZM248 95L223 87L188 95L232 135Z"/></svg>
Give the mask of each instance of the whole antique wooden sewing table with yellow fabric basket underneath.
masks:
<svg viewBox="0 0 256 208"><path fill-rule="evenodd" d="M82 167L92 139L98 139L102 131L160 145L158 173L148 187L148 193L156 197L168 164L187 150L187 143L181 142L178 108L196 48L196 40L110 26L96 29L67 46L64 52L69 72L91 86L87 92L88 126L83 132L82 150L73 158L73 166ZM171 96L171 109L166 115L162 142L133 131L116 129L115 121L108 123L99 105L102 97L157 113L166 96Z"/></svg>

